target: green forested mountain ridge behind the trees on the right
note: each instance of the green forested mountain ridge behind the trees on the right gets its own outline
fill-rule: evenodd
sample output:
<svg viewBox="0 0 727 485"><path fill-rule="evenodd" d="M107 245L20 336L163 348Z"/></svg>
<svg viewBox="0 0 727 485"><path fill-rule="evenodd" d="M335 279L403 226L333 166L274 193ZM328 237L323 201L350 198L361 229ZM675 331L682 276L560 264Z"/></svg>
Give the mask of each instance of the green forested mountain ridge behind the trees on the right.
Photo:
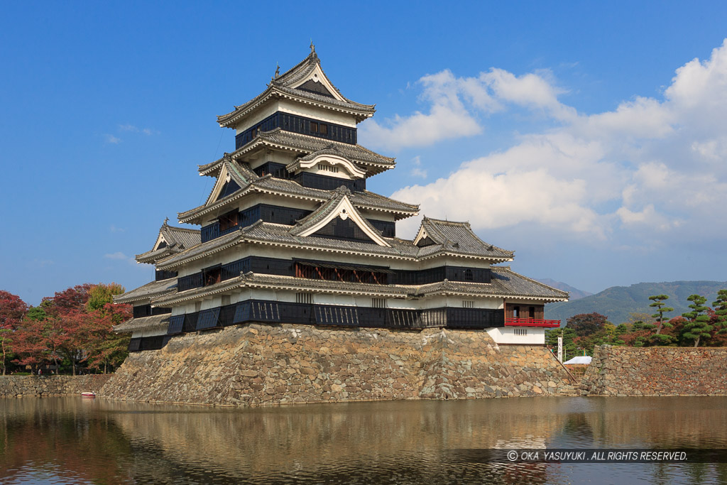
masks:
<svg viewBox="0 0 727 485"><path fill-rule="evenodd" d="M648 306L651 303L648 297L652 294L669 295L666 303L674 311L667 313L667 316L673 318L690 310L686 300L690 294L701 294L707 298L707 305L711 306L720 289L727 289L727 281L671 281L611 286L603 292L578 300L549 303L545 305L545 318L561 320L561 325L565 326L566 320L571 316L596 312L607 316L608 321L618 325L629 320L629 313L653 314L654 308Z"/></svg>

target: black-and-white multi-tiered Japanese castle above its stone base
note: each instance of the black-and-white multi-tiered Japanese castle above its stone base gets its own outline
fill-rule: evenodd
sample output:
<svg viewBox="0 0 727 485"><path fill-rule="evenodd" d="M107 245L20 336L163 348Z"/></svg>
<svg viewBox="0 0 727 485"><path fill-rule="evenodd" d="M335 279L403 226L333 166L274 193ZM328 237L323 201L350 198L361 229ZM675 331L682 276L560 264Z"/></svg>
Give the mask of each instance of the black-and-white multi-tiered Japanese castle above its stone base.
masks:
<svg viewBox="0 0 727 485"><path fill-rule="evenodd" d="M175 335L262 322L386 329L485 329L498 344L542 345L547 302L568 294L502 265L513 252L468 223L424 217L413 240L396 222L419 206L366 190L394 159L358 145L374 105L349 100L311 45L302 62L217 117L235 150L201 165L213 177L200 207L164 222L137 262L156 279L116 297L134 318L129 350Z"/></svg>

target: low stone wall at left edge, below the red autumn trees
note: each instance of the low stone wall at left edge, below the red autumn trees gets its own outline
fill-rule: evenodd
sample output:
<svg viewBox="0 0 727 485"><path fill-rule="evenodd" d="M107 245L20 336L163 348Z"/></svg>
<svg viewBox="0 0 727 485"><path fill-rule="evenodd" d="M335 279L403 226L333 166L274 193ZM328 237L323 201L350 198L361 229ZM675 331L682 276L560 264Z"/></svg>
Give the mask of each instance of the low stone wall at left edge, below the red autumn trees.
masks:
<svg viewBox="0 0 727 485"><path fill-rule="evenodd" d="M86 391L98 393L111 375L0 376L0 397L72 396Z"/></svg>

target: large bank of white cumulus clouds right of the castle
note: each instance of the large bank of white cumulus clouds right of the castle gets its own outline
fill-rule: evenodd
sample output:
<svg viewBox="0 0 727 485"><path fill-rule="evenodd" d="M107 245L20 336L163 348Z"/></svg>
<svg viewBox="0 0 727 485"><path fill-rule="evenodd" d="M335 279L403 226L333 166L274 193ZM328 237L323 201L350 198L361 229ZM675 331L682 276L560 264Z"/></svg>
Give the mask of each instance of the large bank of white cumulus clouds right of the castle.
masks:
<svg viewBox="0 0 727 485"><path fill-rule="evenodd" d="M443 71L428 79L423 89L446 91L441 96L463 107L462 118L507 116L517 105L546 119L516 145L466 161L433 183L402 188L395 199L421 202L431 217L470 220L475 230L531 225L616 246L727 237L720 224L727 200L727 39L709 59L678 68L662 97L635 96L603 113L561 103L563 90L547 72L517 76L492 68L474 78Z"/></svg>

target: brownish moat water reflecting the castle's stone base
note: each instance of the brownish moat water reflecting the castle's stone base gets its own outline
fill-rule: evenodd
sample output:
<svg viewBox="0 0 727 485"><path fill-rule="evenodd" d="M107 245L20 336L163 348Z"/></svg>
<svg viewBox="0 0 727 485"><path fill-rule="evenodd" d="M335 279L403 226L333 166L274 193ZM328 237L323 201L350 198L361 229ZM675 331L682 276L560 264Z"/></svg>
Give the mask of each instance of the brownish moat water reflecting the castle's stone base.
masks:
<svg viewBox="0 0 727 485"><path fill-rule="evenodd" d="M727 463L526 463L456 449L727 448L727 398L220 409L0 399L1 484L725 484Z"/></svg>

